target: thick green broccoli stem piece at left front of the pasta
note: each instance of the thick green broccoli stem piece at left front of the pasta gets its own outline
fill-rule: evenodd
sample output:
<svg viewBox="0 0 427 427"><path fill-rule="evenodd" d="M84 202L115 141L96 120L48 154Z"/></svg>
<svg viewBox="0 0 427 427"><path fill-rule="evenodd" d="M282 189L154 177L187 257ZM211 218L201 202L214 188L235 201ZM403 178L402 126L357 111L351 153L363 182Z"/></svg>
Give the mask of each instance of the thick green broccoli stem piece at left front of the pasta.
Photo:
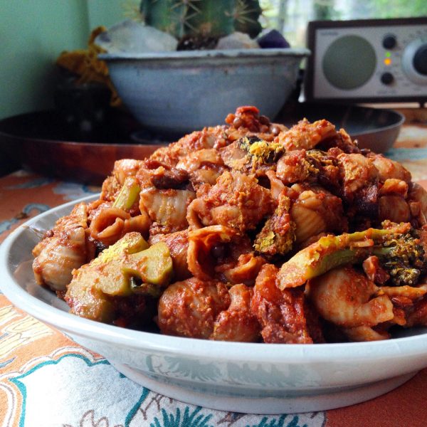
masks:
<svg viewBox="0 0 427 427"><path fill-rule="evenodd" d="M98 258L74 271L65 300L76 315L112 322L115 305L110 297L133 293L158 297L172 273L166 243L148 247L139 233L127 233Z"/></svg>

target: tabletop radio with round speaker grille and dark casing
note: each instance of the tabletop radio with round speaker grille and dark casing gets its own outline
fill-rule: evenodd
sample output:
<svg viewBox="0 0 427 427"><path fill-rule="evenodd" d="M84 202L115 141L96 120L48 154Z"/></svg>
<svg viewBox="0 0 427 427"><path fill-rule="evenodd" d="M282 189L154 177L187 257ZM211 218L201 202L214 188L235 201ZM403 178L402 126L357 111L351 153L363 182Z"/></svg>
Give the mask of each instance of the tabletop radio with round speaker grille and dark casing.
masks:
<svg viewBox="0 0 427 427"><path fill-rule="evenodd" d="M427 101L427 17L312 21L307 47L307 101Z"/></svg>

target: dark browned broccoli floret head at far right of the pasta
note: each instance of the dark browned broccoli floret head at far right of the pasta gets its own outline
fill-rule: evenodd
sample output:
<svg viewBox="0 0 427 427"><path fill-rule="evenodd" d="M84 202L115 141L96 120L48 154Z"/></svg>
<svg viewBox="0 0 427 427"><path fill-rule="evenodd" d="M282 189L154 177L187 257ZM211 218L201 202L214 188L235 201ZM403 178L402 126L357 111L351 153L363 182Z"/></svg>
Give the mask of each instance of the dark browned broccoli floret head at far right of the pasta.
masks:
<svg viewBox="0 0 427 427"><path fill-rule="evenodd" d="M416 285L420 275L426 273L426 254L413 228L408 233L385 236L373 253L389 273L391 285Z"/></svg>

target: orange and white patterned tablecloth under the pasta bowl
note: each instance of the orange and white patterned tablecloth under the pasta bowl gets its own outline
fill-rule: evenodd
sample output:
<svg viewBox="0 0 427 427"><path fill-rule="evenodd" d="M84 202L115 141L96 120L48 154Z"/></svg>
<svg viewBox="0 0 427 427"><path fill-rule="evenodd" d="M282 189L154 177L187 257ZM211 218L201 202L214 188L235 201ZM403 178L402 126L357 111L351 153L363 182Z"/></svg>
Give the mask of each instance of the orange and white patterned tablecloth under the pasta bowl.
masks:
<svg viewBox="0 0 427 427"><path fill-rule="evenodd" d="M405 125L386 155L427 186L427 125ZM23 171L0 178L0 242L26 219L97 191ZM275 416L213 411L133 383L0 291L0 427L425 427L426 386L427 369L384 396L347 408Z"/></svg>

